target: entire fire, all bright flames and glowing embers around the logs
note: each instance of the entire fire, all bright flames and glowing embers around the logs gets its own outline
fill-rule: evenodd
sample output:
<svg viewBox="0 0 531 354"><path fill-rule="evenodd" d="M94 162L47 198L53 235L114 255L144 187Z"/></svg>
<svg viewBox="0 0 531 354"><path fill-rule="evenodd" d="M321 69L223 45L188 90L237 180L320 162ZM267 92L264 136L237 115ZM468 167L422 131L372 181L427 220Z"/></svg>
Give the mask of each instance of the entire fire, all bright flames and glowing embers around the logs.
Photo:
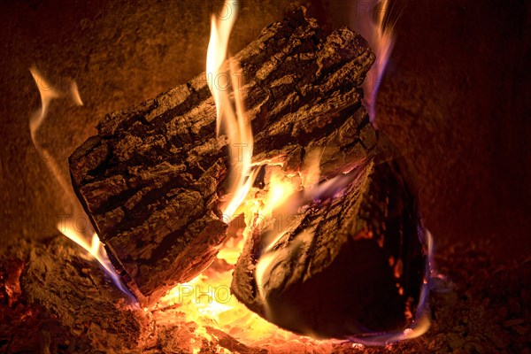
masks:
<svg viewBox="0 0 531 354"><path fill-rule="evenodd" d="M364 87L366 91L365 104L373 123L375 122L375 100L379 82L389 61L394 43L392 30L384 27L384 18L389 11L388 1L384 0L380 3L381 11L375 22L372 18L364 16L358 17L357 22L353 24L355 25L353 27L358 27L360 33L364 35L377 54L376 62L367 75ZM290 215L304 204L318 200L323 194L334 195L353 178L351 171L344 171L334 179L318 185L319 158L323 150L316 151L306 157L304 167L295 175L282 171L283 161L281 158L252 162L253 135L239 91L242 88L242 73L234 59L228 58L227 60L227 44L235 25L237 8L237 1L227 1L224 4L225 11L218 16L212 16L211 38L206 60L207 82L216 104L217 133L218 135L227 135L229 146L231 146L231 172L227 178L227 198L223 201L221 210L233 232L227 238L227 242L219 249L218 259L210 268L194 280L180 284L170 290L159 299L158 304L152 308L146 308L144 311L150 312L153 319L160 325L171 324L176 320L176 317L184 318L187 323L196 324L195 339L192 340L189 348L190 351L194 352L201 349L201 338L212 340L213 337L218 337L220 332L248 345L266 348L272 353L305 352L309 344L312 345L312 351L327 352L338 341L316 340L312 339L311 333L305 334L309 336L304 336L283 330L261 318L258 314L250 312L230 293L229 287L236 260L242 252L245 240L253 230L263 227L262 223L274 219L274 215ZM30 134L35 149L39 151L42 157L45 157L50 172L57 178L58 183L65 191L65 195L72 204L70 207L73 208L73 215L85 215L86 217L73 193L71 184L61 177L58 164L53 158L50 158L48 151L42 149L36 138L36 133L48 112L50 101L64 96L65 93L54 89L35 67L31 68L30 71L42 101L42 109L36 112L29 121ZM228 90L229 87L232 88L232 92ZM82 104L75 82L72 81L70 92L67 94L72 96L75 104ZM233 101L235 104L232 104ZM267 188L254 188L253 182L258 171L264 165L267 165L270 171L266 181ZM272 235L266 237L266 247L259 255L255 270L258 289L263 289L260 285L266 281L266 273L268 273L268 267L273 260L278 257L286 257L286 255L279 255L278 252L273 251L275 243L281 238L282 231L286 227L288 225L277 227ZM134 304L136 303L134 296L119 280L118 274L114 271L111 261L105 253L103 243L99 241L93 229L80 232L78 227L75 227L74 219L65 219L58 225L58 230L78 243L84 250L89 251L103 266L116 286L133 299ZM304 240L311 236L311 230L304 230L297 235L297 240L304 243ZM427 233L427 238L427 253L430 257L428 266L431 269L433 247L429 233ZM289 252L289 250L287 251ZM264 294L261 295L263 299L266 299ZM419 312L422 312L423 304L426 304L426 297L427 287L423 289L421 294ZM425 333L428 327L427 316L421 316L415 323L415 327L404 330L404 333L382 334L367 340L366 343L384 344L414 338ZM352 347L362 349L363 345L355 343L352 344Z"/></svg>

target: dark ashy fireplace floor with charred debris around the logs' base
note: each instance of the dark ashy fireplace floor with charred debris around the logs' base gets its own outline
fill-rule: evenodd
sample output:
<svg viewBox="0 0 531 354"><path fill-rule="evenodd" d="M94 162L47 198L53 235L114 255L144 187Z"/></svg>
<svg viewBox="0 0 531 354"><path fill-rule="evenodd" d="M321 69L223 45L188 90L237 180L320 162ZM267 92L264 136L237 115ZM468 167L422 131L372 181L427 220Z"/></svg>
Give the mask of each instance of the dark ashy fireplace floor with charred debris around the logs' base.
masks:
<svg viewBox="0 0 531 354"><path fill-rule="evenodd" d="M441 245L435 261L447 281L430 296L432 327L417 339L387 348L352 343L292 345L293 351L334 353L528 352L531 261L497 262L489 242ZM32 244L21 240L0 257L0 350L6 353L187 352L196 325L173 309L172 324L127 300L96 261L62 235ZM65 277L68 274L68 277ZM470 274L474 274L472 277ZM255 348L215 328L204 353L282 352ZM315 347L312 347L315 345ZM276 348L276 350L275 350ZM284 352L287 347L283 347ZM289 348L289 347L288 347ZM526 351L527 350L527 351Z"/></svg>

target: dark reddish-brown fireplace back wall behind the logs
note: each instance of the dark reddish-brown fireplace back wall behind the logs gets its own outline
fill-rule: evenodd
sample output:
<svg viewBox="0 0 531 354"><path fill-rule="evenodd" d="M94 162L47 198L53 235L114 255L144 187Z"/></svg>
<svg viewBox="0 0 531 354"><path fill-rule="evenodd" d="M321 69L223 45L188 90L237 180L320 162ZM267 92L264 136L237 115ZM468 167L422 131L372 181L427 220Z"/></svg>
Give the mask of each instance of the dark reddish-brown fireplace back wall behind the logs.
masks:
<svg viewBox="0 0 531 354"><path fill-rule="evenodd" d="M96 122L204 71L218 2L8 1L0 4L1 204L5 245L54 233L65 194L35 152L27 121L40 97L28 68L85 103L55 101L39 131L65 178L67 157ZM288 1L242 1L236 51L281 19ZM332 26L353 1L313 4ZM395 1L396 47L378 98L378 126L403 151L439 250L489 242L530 255L531 12L528 2ZM497 257L497 256L496 256Z"/></svg>

